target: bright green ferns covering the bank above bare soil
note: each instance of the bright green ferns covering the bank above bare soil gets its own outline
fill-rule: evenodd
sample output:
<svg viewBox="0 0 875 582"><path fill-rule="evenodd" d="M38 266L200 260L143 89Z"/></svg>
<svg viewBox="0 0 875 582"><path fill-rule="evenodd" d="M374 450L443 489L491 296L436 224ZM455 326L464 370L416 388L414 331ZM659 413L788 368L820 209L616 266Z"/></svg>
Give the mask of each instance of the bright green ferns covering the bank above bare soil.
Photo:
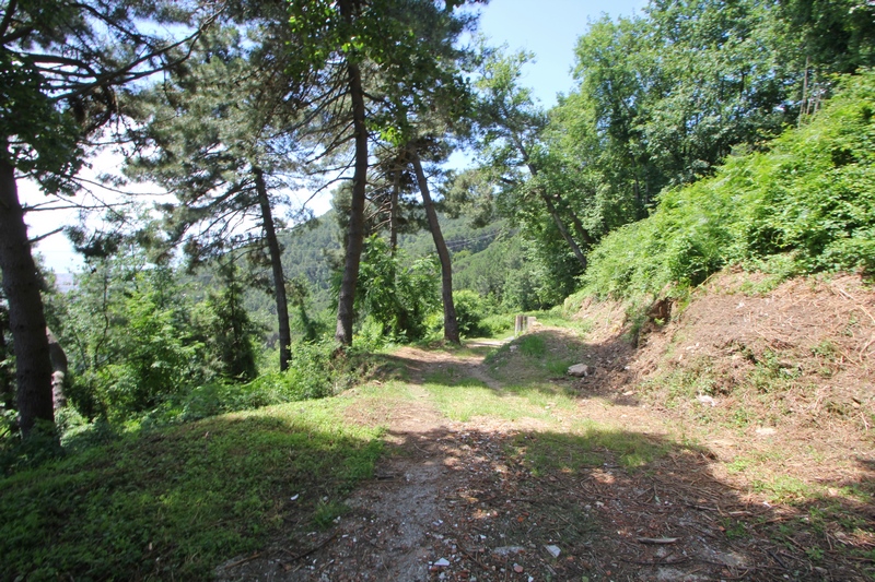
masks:
<svg viewBox="0 0 875 582"><path fill-rule="evenodd" d="M875 72L837 95L768 151L733 156L713 178L663 193L648 218L590 256L599 297L697 285L733 262L783 274L875 272Z"/></svg>

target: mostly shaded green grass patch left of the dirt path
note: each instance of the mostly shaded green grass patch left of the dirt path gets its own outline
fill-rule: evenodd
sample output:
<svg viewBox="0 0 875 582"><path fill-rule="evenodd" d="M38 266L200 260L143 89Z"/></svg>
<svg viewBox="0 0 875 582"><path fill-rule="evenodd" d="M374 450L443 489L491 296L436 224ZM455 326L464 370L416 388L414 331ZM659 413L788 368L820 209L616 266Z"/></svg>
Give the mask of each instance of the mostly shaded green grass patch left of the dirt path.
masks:
<svg viewBox="0 0 875 582"><path fill-rule="evenodd" d="M291 516L330 522L382 450L338 400L128 433L3 478L4 575L207 580Z"/></svg>

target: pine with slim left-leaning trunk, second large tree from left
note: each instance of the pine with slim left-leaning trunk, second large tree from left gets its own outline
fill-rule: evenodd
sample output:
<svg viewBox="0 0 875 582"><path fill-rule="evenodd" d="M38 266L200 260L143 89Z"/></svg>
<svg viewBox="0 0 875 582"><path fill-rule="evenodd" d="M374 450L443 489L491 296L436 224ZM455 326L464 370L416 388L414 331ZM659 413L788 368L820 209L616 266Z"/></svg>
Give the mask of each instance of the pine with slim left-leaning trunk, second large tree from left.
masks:
<svg viewBox="0 0 875 582"><path fill-rule="evenodd" d="M313 88L285 72L288 27L250 27L258 38L252 48L236 28L202 35L184 69L133 100L130 109L149 122L136 132L141 155L128 174L176 195L177 204L161 207L170 242L192 266L230 250L257 261L267 247L285 370L291 329L273 212L308 153L311 116L302 104Z"/></svg>

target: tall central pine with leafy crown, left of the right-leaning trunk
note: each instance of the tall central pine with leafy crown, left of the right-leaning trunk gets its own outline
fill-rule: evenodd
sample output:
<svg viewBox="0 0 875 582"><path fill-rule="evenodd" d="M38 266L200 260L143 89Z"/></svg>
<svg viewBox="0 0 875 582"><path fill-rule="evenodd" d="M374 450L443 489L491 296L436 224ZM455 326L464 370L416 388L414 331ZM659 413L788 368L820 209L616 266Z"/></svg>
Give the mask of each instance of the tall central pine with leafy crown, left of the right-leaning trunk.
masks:
<svg viewBox="0 0 875 582"><path fill-rule="evenodd" d="M347 78L345 93L352 114L354 171L335 332L342 345L352 343L354 296L364 239L370 136L368 96L377 96L378 103L387 94L407 94L416 99L418 85L434 81L430 72L438 69L435 61L440 52L435 50L435 37L422 25L422 19L450 13L459 4L450 1L439 7L432 0L339 0L336 3L312 0L291 4L290 23L303 43L302 61L318 70L328 69L331 58L342 62ZM425 22L430 20L427 17ZM371 82L373 87L369 85ZM393 83L395 87L389 86ZM390 131L392 121L373 116L372 128Z"/></svg>

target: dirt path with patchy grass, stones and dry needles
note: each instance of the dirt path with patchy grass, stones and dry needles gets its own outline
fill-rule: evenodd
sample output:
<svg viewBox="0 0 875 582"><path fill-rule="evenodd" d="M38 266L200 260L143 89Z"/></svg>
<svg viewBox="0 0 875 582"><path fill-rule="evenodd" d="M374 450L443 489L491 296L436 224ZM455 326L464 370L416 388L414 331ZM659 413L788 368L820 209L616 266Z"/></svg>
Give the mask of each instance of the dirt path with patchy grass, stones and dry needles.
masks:
<svg viewBox="0 0 875 582"><path fill-rule="evenodd" d="M387 442L349 511L219 578L864 579L860 563L770 537L794 514L718 476L716 455L631 385L571 382L583 356L621 377L630 353L551 328L504 347L394 353L396 379L341 396Z"/></svg>

